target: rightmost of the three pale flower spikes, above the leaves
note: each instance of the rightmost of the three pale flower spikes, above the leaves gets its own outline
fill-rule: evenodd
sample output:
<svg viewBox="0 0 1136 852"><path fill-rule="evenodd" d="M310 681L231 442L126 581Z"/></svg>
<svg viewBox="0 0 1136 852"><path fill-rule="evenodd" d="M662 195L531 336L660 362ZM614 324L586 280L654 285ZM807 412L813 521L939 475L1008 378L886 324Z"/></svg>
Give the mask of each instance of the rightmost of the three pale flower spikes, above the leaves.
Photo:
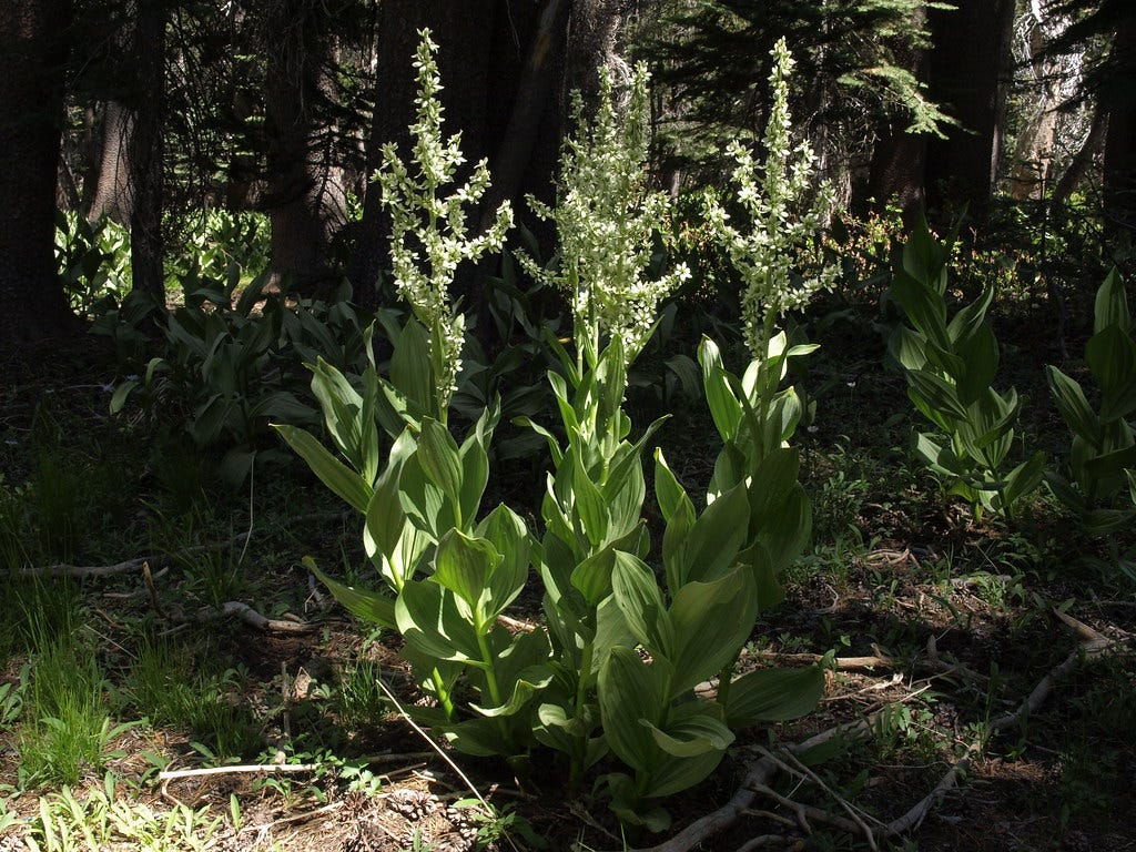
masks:
<svg viewBox="0 0 1136 852"><path fill-rule="evenodd" d="M774 324L787 311L808 303L819 290L832 287L837 268L817 265L816 235L833 207L828 185L813 195L811 181L816 156L808 143L793 149L788 109L788 78L793 70L785 39L771 51L772 108L763 137L766 160L760 166L741 143L729 153L737 162L734 181L737 201L751 227L736 228L718 203L708 214L710 224L729 252L742 277L742 320L745 342L754 358L766 358ZM811 274L802 270L812 269Z"/></svg>

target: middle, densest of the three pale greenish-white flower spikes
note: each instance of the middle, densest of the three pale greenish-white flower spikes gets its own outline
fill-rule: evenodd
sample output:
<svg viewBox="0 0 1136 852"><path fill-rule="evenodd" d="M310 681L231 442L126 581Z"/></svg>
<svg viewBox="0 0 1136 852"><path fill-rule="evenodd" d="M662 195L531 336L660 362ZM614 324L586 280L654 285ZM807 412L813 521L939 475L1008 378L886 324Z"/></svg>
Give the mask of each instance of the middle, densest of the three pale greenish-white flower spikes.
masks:
<svg viewBox="0 0 1136 852"><path fill-rule="evenodd" d="M561 154L556 209L528 200L538 217L556 222L560 266L542 269L523 253L521 266L570 294L584 334L577 344L592 358L602 332L619 337L627 362L634 360L651 334L659 301L690 277L685 264L661 278L646 277L653 235L670 208L666 195L646 189L648 77L646 66L634 69L628 102L619 109L611 74L601 69L599 111L591 128L576 97L578 130Z"/></svg>

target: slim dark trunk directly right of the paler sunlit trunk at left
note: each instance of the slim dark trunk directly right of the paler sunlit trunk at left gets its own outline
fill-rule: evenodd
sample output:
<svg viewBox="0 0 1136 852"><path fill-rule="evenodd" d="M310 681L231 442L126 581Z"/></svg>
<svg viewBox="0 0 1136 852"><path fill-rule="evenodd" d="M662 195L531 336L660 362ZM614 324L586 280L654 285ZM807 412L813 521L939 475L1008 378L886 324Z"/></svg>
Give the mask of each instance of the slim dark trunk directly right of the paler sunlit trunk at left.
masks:
<svg viewBox="0 0 1136 852"><path fill-rule="evenodd" d="M161 214L165 201L162 112L166 81L165 0L137 0L137 101L128 136L131 269L135 290L166 303Z"/></svg>

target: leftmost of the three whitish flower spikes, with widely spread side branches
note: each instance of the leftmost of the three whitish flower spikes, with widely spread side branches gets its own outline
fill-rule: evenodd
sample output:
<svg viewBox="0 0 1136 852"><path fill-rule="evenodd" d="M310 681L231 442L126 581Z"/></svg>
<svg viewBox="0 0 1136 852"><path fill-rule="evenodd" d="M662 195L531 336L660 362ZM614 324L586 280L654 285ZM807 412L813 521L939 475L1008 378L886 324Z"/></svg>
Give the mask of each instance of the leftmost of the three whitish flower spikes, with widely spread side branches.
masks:
<svg viewBox="0 0 1136 852"><path fill-rule="evenodd" d="M437 44L429 31L418 33L415 61L418 95L411 174L393 144L383 147L383 165L375 179L383 190L383 204L391 212L391 267L399 293L431 333L431 359L435 369L438 404L445 409L456 390L465 342L465 318L450 302L450 284L458 264L476 260L486 251L500 251L506 232L512 227L512 208L504 202L493 225L484 234L469 236L466 207L476 209L490 185L485 160L474 167L469 181L444 198L438 190L453 183L466 161L461 134L442 137L442 81L434 53Z"/></svg>

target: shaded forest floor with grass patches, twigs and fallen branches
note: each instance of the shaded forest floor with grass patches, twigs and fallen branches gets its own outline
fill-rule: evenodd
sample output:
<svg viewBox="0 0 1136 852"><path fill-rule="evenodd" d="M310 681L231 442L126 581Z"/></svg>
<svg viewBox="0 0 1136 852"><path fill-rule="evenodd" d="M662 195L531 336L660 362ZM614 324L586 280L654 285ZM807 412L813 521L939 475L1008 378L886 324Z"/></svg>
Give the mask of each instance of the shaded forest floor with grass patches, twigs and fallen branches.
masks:
<svg viewBox="0 0 1136 852"><path fill-rule="evenodd" d="M1045 353L1019 331L1010 375L1039 406ZM669 833L626 837L554 767L518 782L412 729L376 688L417 698L395 638L301 565L361 570L356 519L298 462L232 494L195 451L152 452L177 424L110 418L115 376L89 349L30 353L0 385L0 851L1136 850L1136 594L1109 566L1131 532L1086 538L1042 494L1011 525L942 495L907 453L916 416L876 343L837 344L859 354L812 375L827 389L801 433L817 543L744 658L828 654L819 710L743 735L668 801ZM657 404L633 399L634 420ZM660 441L694 491L713 449L699 407L680 408ZM1059 425L1027 429L1055 446ZM513 465L490 487L532 513L541 469ZM251 610L223 616L229 601ZM510 616L538 603L525 594ZM72 620L110 727L64 780L41 759L55 741L28 670L44 625ZM721 830L682 841L732 799L747 801Z"/></svg>

